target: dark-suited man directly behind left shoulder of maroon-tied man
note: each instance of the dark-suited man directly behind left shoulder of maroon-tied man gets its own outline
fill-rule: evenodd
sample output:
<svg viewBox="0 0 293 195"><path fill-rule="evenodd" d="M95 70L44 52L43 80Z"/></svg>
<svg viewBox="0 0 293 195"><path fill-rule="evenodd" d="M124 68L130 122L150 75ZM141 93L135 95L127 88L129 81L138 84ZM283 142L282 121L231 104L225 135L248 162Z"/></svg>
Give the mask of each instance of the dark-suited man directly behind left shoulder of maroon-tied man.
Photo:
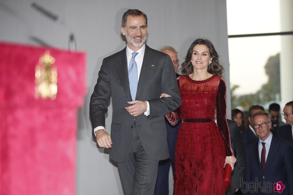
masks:
<svg viewBox="0 0 293 195"><path fill-rule="evenodd" d="M253 116L254 113L258 111L265 111L265 109L260 106L260 105L253 105L249 108L248 110L248 127L241 133L242 141L244 146L250 142L251 140L256 139L256 132L252 127L252 120L251 117Z"/></svg>

